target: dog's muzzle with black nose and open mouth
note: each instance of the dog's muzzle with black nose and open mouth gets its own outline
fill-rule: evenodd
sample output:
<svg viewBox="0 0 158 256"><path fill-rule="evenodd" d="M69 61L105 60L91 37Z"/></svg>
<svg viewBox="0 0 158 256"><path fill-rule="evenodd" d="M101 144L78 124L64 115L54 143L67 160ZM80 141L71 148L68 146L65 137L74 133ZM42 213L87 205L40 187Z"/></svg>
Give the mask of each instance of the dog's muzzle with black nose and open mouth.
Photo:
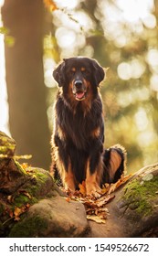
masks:
<svg viewBox="0 0 158 256"><path fill-rule="evenodd" d="M83 101L86 97L86 86L82 80L75 80L73 83L73 94L77 101Z"/></svg>

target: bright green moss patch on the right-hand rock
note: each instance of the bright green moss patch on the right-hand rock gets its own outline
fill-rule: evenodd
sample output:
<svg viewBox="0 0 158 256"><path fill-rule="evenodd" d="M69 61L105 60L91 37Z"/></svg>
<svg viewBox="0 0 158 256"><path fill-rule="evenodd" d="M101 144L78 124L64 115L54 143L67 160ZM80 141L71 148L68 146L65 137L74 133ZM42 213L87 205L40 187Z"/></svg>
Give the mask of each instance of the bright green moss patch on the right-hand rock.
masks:
<svg viewBox="0 0 158 256"><path fill-rule="evenodd" d="M153 200L157 197L158 176L153 176L151 180L132 180L124 187L123 199L127 201L129 208L135 209L140 215L150 215L153 210Z"/></svg>

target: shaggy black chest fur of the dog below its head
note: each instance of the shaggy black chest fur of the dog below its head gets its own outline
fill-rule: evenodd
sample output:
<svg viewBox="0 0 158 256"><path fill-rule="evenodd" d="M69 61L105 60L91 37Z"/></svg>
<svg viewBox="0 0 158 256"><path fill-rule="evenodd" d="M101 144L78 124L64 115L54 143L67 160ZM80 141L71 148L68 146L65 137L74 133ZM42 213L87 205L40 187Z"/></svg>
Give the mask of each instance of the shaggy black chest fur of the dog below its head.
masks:
<svg viewBox="0 0 158 256"><path fill-rule="evenodd" d="M89 150L91 142L103 133L102 104L100 97L93 102L85 114L82 104L74 110L69 108L61 98L56 103L57 132L63 134L65 144L75 145L78 149ZM96 136L100 133L99 136ZM59 134L58 134L59 135ZM60 136L59 136L60 137Z"/></svg>

